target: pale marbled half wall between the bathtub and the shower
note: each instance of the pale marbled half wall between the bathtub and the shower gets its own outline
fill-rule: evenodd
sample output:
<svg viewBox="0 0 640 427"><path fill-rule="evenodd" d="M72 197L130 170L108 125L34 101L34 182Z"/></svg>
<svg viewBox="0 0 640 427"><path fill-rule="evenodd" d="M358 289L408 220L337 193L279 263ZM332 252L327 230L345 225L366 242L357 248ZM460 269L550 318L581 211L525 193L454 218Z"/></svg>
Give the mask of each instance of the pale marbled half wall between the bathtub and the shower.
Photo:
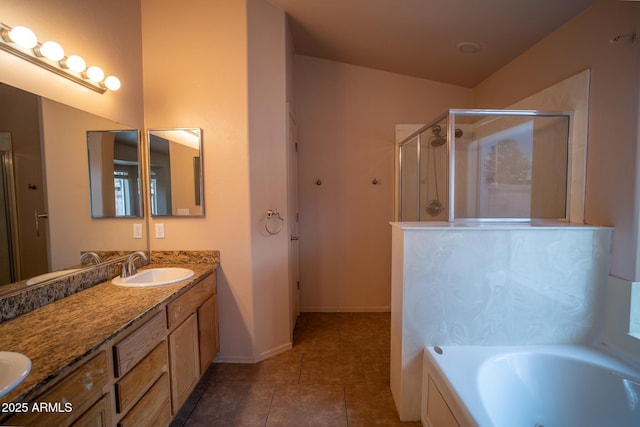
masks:
<svg viewBox="0 0 640 427"><path fill-rule="evenodd" d="M601 342L613 229L392 224L391 389L418 420L433 345Z"/></svg>

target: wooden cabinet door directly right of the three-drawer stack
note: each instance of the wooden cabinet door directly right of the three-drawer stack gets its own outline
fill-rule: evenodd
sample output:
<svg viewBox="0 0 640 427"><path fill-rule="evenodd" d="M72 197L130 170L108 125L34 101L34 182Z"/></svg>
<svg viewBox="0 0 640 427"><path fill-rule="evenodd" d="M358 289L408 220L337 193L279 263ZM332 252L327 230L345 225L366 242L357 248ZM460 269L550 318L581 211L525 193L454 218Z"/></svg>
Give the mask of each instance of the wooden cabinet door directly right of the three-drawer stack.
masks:
<svg viewBox="0 0 640 427"><path fill-rule="evenodd" d="M198 349L198 319L191 314L169 335L169 363L171 372L171 405L173 415L189 397L200 378Z"/></svg>

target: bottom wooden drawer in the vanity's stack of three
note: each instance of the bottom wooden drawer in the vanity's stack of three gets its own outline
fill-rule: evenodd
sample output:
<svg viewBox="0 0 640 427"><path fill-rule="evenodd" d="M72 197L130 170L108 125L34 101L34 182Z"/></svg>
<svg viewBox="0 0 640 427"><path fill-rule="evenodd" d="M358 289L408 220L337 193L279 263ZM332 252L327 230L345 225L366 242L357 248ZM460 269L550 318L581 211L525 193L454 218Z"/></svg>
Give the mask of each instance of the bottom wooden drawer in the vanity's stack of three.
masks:
<svg viewBox="0 0 640 427"><path fill-rule="evenodd" d="M165 372L142 399L120 420L118 427L163 426L171 420L169 375Z"/></svg>

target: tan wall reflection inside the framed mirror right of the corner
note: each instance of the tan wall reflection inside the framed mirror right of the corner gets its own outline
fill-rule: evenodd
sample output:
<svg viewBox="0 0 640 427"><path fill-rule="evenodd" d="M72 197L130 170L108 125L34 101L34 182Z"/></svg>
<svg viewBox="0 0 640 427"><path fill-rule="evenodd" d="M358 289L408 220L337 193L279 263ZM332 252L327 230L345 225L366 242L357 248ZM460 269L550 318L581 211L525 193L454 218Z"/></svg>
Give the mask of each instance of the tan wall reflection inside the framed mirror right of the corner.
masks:
<svg viewBox="0 0 640 427"><path fill-rule="evenodd" d="M193 159L198 156L199 151L194 148L176 142L169 144L172 215L194 215L200 211L200 206L196 206L193 178Z"/></svg>

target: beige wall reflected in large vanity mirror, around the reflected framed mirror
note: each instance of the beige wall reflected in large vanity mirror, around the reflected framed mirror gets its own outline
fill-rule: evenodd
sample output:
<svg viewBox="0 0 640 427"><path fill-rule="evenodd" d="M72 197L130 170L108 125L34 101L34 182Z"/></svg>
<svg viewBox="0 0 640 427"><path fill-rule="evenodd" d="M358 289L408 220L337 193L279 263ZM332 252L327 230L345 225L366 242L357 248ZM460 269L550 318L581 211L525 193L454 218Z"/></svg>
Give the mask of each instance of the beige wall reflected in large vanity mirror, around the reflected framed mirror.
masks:
<svg viewBox="0 0 640 427"><path fill-rule="evenodd" d="M139 223L139 218L91 218L86 133L91 129L126 127L57 102L42 100L50 263L54 269L78 264L83 250L146 248L144 240L132 237L133 224ZM113 153L110 159L113 182ZM113 190L109 199L113 199Z"/></svg>

